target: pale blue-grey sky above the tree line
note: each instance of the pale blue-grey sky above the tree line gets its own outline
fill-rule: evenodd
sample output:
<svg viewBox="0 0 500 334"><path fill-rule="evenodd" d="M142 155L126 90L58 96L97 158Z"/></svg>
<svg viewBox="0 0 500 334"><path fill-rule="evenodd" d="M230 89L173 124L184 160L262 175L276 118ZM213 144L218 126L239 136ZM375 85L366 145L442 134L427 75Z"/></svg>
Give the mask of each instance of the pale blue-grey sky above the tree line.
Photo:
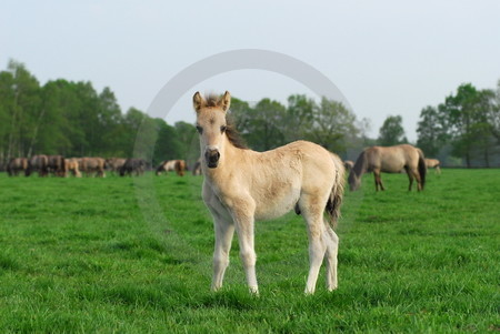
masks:
<svg viewBox="0 0 500 334"><path fill-rule="evenodd" d="M500 1L22 1L0 2L0 69L9 59L48 80L109 87L123 112L148 111L183 69L224 51L261 49L296 58L328 77L376 138L400 114L417 139L419 114L457 87L496 88L500 79ZM167 122L194 121L197 91L286 103L318 99L270 71L238 70L186 91Z"/></svg>

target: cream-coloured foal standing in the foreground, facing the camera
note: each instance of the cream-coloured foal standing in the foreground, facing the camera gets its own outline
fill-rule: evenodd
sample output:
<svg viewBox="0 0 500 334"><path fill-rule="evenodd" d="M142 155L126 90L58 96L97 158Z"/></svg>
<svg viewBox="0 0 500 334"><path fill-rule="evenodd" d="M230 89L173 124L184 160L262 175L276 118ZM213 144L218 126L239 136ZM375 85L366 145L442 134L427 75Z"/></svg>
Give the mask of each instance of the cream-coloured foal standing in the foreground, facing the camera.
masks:
<svg viewBox="0 0 500 334"><path fill-rule="evenodd" d="M250 292L258 293L254 221L278 217L293 209L304 217L309 234L306 293L314 292L324 255L327 289L337 289L339 239L332 226L340 215L343 194L341 160L307 141L262 153L246 149L226 120L230 101L229 92L222 98L204 99L199 92L193 97L204 175L202 198L216 230L211 289L222 286L236 230L248 286Z"/></svg>

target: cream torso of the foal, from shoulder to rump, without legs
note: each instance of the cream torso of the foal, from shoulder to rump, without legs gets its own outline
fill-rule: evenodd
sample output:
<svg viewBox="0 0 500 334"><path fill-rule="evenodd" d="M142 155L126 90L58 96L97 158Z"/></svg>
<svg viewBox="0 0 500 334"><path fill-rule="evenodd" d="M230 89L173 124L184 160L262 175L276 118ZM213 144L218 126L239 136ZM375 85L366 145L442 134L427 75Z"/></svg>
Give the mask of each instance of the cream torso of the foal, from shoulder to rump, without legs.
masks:
<svg viewBox="0 0 500 334"><path fill-rule="evenodd" d="M248 191L256 202L256 220L268 220L291 211L301 194L323 193L336 180L330 153L307 141L297 141L266 152L241 151L233 164L232 184Z"/></svg>

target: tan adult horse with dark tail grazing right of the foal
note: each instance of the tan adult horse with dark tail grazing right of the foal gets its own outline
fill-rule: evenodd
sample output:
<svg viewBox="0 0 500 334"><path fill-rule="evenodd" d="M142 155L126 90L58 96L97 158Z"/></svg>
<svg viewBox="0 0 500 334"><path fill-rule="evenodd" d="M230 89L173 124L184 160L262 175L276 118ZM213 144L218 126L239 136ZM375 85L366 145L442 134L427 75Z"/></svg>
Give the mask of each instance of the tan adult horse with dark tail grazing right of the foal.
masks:
<svg viewBox="0 0 500 334"><path fill-rule="evenodd" d="M409 144L388 148L371 146L359 154L349 174L349 186L351 191L358 190L361 184L361 176L367 172L373 172L376 191L379 191L379 186L380 190L386 190L380 173L400 173L402 169L406 170L410 180L408 190L411 190L413 179L417 180L417 189L419 191L423 190L427 169L423 153L420 149Z"/></svg>

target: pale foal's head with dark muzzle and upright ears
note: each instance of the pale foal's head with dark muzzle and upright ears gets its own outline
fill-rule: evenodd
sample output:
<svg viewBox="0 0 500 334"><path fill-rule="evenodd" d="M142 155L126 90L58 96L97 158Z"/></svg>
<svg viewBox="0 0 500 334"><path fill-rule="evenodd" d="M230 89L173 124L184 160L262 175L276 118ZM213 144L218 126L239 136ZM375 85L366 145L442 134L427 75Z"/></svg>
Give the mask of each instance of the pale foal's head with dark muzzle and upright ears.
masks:
<svg viewBox="0 0 500 334"><path fill-rule="evenodd" d="M214 169L219 164L220 152L226 144L226 113L231 103L227 91L223 97L209 95L203 99L199 92L192 98L197 112L197 130L200 134L200 149L207 166Z"/></svg>

